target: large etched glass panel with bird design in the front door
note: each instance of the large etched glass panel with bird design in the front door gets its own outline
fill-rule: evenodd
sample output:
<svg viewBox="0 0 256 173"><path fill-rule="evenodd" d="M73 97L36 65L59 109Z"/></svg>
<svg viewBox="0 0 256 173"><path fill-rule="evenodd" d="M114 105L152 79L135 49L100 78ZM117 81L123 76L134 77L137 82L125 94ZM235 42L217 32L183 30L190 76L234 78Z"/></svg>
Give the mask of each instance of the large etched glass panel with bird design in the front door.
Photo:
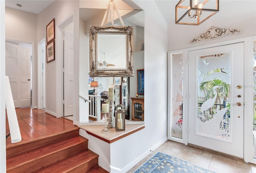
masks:
<svg viewBox="0 0 256 173"><path fill-rule="evenodd" d="M198 57L196 134L230 141L230 53Z"/></svg>

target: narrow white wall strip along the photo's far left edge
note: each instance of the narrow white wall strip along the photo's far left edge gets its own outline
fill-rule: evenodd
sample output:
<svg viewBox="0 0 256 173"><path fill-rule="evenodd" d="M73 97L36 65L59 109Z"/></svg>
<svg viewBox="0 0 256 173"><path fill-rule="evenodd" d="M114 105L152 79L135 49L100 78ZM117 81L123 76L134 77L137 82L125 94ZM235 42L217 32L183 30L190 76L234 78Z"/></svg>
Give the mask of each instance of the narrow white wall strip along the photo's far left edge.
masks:
<svg viewBox="0 0 256 173"><path fill-rule="evenodd" d="M5 2L0 1L0 172L6 172L5 131Z"/></svg>

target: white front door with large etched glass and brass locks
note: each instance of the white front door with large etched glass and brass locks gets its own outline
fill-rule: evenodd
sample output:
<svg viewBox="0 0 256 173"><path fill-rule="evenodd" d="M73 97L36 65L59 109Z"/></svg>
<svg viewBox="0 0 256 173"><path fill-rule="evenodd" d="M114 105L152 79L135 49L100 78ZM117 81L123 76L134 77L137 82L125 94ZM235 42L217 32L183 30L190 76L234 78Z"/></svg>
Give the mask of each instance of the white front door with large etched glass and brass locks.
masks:
<svg viewBox="0 0 256 173"><path fill-rule="evenodd" d="M188 62L188 143L244 158L244 43L190 51Z"/></svg>

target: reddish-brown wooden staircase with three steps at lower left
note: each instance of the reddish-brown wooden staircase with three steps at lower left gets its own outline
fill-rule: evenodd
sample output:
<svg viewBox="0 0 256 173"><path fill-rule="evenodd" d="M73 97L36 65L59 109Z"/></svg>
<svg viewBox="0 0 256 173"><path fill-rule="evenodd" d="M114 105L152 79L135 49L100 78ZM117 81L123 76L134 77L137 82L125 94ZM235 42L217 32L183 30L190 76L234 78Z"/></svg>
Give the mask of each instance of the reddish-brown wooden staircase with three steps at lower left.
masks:
<svg viewBox="0 0 256 173"><path fill-rule="evenodd" d="M108 173L79 128L6 146L7 173Z"/></svg>

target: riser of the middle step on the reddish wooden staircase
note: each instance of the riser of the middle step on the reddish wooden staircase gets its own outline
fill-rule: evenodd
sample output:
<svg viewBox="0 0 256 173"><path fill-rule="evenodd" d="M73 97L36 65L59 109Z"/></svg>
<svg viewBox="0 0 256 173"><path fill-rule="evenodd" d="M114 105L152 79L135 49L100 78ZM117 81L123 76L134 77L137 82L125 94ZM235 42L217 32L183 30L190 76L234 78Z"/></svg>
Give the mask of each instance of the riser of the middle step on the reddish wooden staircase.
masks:
<svg viewBox="0 0 256 173"><path fill-rule="evenodd" d="M78 143L77 145L62 148L60 150L56 150L52 153L48 153L40 157L33 156L32 158L34 159L31 159L30 161L26 161L19 165L15 165L14 167L7 168L7 171L10 171L12 173L31 173L32 171L38 170L38 168L41 169L42 167L46 167L48 165L56 163L59 160L66 159L72 155L76 155L81 151L87 150L87 146L88 143L84 141L83 143ZM29 156L24 155L24 157Z"/></svg>

